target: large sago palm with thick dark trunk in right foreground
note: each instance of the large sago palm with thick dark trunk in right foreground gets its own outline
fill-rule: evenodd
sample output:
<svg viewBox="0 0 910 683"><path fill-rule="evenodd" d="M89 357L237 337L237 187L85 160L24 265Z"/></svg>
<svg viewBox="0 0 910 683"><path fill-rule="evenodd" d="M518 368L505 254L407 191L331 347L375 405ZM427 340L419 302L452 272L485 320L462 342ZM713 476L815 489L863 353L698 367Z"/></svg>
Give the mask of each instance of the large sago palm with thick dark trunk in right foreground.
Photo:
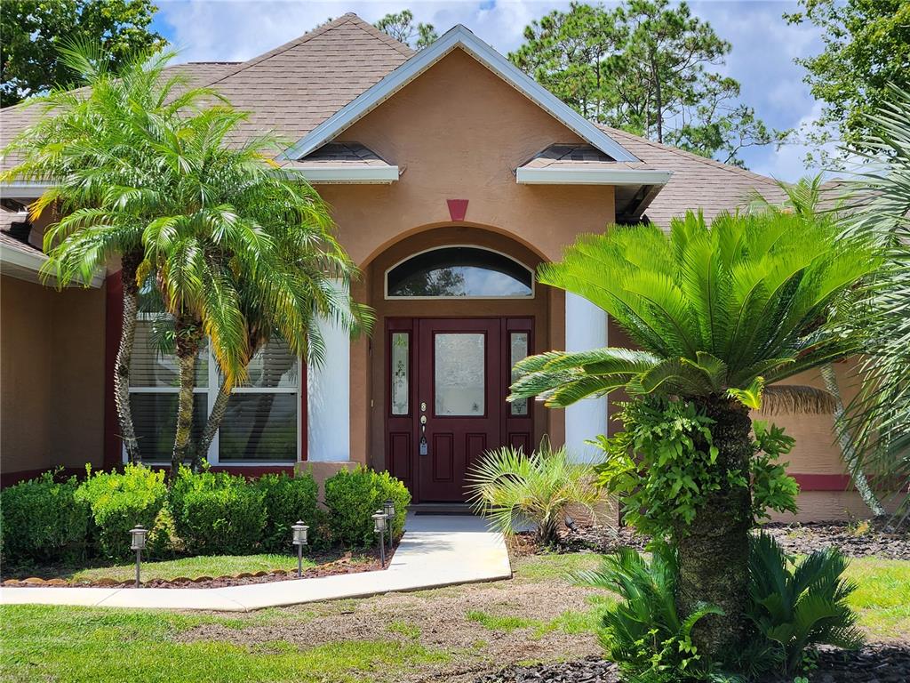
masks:
<svg viewBox="0 0 910 683"><path fill-rule="evenodd" d="M581 237L560 262L541 265L545 284L581 295L613 316L640 350L547 352L516 366L511 398L562 407L624 389L692 402L713 420L722 484L705 494L690 525L673 530L683 616L703 602L724 615L700 622L700 652L717 657L743 643L751 490L750 408L819 411L830 396L779 385L858 351L824 324L857 280L877 266L860 240L795 214L722 214L709 227L688 213L670 234L652 225L612 226Z"/></svg>

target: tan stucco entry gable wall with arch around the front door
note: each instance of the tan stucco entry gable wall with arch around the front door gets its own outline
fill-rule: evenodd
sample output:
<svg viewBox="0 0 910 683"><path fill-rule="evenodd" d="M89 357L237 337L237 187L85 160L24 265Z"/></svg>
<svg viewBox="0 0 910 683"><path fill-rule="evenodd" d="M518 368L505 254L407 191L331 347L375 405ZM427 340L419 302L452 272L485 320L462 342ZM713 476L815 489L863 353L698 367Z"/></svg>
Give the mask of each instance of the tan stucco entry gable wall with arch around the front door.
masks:
<svg viewBox="0 0 910 683"><path fill-rule="evenodd" d="M541 149L580 138L532 104L460 49L444 57L409 86L390 97L339 136L359 142L401 169L391 185L319 186L332 205L339 239L365 279L355 289L361 301L379 309L370 342L351 351L351 459L381 463L384 392L382 331L385 315L522 314L502 302L421 301L384 305L382 276L410 253L430 246L444 228L450 243L483 243L521 260L554 260L581 232L599 231L614 218L611 187L523 186L514 169ZM466 219L450 219L447 199L468 199ZM415 236L424 235L423 238ZM438 243L438 242L433 242ZM394 257L394 260L392 260ZM560 348L564 337L564 297L541 288L537 311L546 320L538 340ZM494 311L495 309L495 311ZM546 314L544 314L546 311ZM542 342L541 342L542 343ZM372 405L370 405L372 401ZM535 432L546 430L555 443L564 438L562 414L544 415Z"/></svg>

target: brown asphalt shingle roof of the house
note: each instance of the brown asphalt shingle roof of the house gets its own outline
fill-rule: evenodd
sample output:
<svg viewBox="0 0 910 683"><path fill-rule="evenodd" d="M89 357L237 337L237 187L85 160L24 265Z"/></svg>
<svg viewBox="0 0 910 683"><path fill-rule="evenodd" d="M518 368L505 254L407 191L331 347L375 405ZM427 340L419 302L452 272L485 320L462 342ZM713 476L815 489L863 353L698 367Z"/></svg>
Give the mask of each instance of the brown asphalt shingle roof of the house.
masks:
<svg viewBox="0 0 910 683"><path fill-rule="evenodd" d="M410 47L359 16L348 14L246 62L190 63L170 68L188 72L194 85L214 87L235 107L251 112L248 121L238 129L236 141L274 131L292 144L413 54ZM38 113L35 107L21 105L0 109L0 147ZM634 166L673 172L670 182L652 199L645 212L659 225L666 226L672 216L686 209L701 208L710 219L722 210L742 206L752 191L771 201L784 199L784 193L772 178L616 128L603 129L642 159L641 165ZM559 155L562 163L603 161L593 158L591 150L586 148L564 151L565 157ZM541 158L538 163L554 160ZM5 160L4 166L11 161Z"/></svg>

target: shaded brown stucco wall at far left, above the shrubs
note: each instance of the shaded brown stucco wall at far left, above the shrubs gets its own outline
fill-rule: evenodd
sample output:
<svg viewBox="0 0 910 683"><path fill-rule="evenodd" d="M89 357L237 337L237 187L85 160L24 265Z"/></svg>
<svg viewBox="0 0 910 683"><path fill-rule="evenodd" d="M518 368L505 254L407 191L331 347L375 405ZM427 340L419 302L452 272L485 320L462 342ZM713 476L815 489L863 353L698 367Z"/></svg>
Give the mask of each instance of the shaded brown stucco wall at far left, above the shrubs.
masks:
<svg viewBox="0 0 910 683"><path fill-rule="evenodd" d="M103 461L105 294L0 279L0 470Z"/></svg>

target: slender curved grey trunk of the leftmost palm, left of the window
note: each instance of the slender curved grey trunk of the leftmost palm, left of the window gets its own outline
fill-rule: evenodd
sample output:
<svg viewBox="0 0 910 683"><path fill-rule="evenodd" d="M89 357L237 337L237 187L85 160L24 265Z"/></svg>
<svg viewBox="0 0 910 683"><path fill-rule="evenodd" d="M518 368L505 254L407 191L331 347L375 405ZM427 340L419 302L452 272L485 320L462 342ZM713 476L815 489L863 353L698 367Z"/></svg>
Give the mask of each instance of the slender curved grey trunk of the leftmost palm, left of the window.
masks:
<svg viewBox="0 0 910 683"><path fill-rule="evenodd" d="M114 370L114 403L117 421L120 423L120 438L126 447L126 459L139 463L139 442L133 425L133 410L129 403L129 366L133 357L133 342L136 339L136 313L139 310L139 288L136 285L136 270L142 261L141 253L124 254L123 269L120 271L123 283L123 317L120 325L120 346L116 352Z"/></svg>

